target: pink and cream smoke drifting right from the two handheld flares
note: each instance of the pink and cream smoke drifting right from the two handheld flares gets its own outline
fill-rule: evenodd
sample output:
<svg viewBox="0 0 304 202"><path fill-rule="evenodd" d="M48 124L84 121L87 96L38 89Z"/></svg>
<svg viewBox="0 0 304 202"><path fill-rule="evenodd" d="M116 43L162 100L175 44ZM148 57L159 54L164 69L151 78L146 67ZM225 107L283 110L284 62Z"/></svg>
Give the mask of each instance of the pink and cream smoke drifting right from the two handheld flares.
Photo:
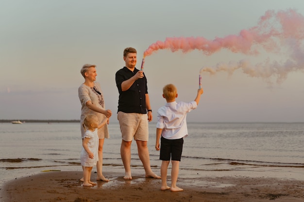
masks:
<svg viewBox="0 0 304 202"><path fill-rule="evenodd" d="M274 12L269 10L261 16L257 26L248 30L241 30L238 35L228 35L213 40L204 37L168 37L165 41L153 43L144 52L144 57L152 55L161 49L170 49L172 52L181 50L187 53L200 50L209 56L221 49L228 49L233 53L245 55L259 55L261 50L272 53L287 51L287 61L277 62L269 59L257 64L251 64L242 59L239 62L218 63L213 67L203 67L200 73L215 74L220 71L232 74L236 69L251 77L264 78L269 81L272 76L281 83L291 71L304 69L304 16L295 10Z"/></svg>

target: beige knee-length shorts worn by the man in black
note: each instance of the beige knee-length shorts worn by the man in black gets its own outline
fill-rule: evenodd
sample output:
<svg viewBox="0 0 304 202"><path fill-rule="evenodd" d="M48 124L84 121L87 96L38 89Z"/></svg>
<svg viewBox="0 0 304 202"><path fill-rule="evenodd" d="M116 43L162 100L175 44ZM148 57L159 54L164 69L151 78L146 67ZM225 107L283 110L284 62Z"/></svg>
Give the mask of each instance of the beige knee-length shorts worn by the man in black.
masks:
<svg viewBox="0 0 304 202"><path fill-rule="evenodd" d="M149 140L148 115L140 113L124 113L118 111L121 138L125 141Z"/></svg>

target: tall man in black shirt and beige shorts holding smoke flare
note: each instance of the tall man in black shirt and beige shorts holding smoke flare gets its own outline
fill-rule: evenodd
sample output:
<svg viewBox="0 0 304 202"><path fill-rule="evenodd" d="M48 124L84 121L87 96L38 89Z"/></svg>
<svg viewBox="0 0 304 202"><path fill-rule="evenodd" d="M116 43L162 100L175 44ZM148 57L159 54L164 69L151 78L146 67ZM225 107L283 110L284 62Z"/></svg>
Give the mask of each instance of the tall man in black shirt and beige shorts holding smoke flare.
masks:
<svg viewBox="0 0 304 202"><path fill-rule="evenodd" d="M135 68L137 52L133 47L123 51L126 65L115 75L119 92L118 121L122 136L120 155L125 168L124 179L131 175L131 143L136 140L138 155L144 166L146 177L160 178L150 166L147 146L149 139L148 121L152 121L152 109L147 88L147 78L143 71ZM148 111L148 112L147 112Z"/></svg>

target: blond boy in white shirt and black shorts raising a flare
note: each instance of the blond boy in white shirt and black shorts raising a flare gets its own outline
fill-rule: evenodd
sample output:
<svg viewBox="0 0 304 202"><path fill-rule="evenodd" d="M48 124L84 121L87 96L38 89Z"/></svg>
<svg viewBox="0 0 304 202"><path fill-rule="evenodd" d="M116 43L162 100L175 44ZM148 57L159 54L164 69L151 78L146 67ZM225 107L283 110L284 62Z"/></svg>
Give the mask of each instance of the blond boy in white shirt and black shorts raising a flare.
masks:
<svg viewBox="0 0 304 202"><path fill-rule="evenodd" d="M162 186L161 190L171 189L171 191L183 191L184 189L176 186L176 181L179 172L179 162L181 161L184 137L188 135L186 124L186 113L192 109L196 109L203 89L197 91L194 101L176 102L177 89L173 84L168 84L163 88L163 97L167 103L165 106L157 110L157 124L156 124L156 143L155 149L160 150L159 159L162 160L160 169ZM161 138L161 146L159 139ZM160 147L159 147L160 146ZM171 187L167 186L167 171L168 166L172 163L171 170Z"/></svg>

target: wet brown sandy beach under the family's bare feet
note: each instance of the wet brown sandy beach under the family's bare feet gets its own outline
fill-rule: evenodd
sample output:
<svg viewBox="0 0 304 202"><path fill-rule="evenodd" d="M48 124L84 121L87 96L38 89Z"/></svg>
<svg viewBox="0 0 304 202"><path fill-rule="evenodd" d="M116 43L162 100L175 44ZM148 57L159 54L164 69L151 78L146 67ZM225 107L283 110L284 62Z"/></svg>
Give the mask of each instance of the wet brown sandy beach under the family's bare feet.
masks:
<svg viewBox="0 0 304 202"><path fill-rule="evenodd" d="M161 191L161 180L143 173L124 180L121 172L104 172L111 181L84 187L81 171L48 171L14 179L1 188L1 202L303 202L304 181L275 177L182 175L181 192ZM92 181L96 173L92 173Z"/></svg>

